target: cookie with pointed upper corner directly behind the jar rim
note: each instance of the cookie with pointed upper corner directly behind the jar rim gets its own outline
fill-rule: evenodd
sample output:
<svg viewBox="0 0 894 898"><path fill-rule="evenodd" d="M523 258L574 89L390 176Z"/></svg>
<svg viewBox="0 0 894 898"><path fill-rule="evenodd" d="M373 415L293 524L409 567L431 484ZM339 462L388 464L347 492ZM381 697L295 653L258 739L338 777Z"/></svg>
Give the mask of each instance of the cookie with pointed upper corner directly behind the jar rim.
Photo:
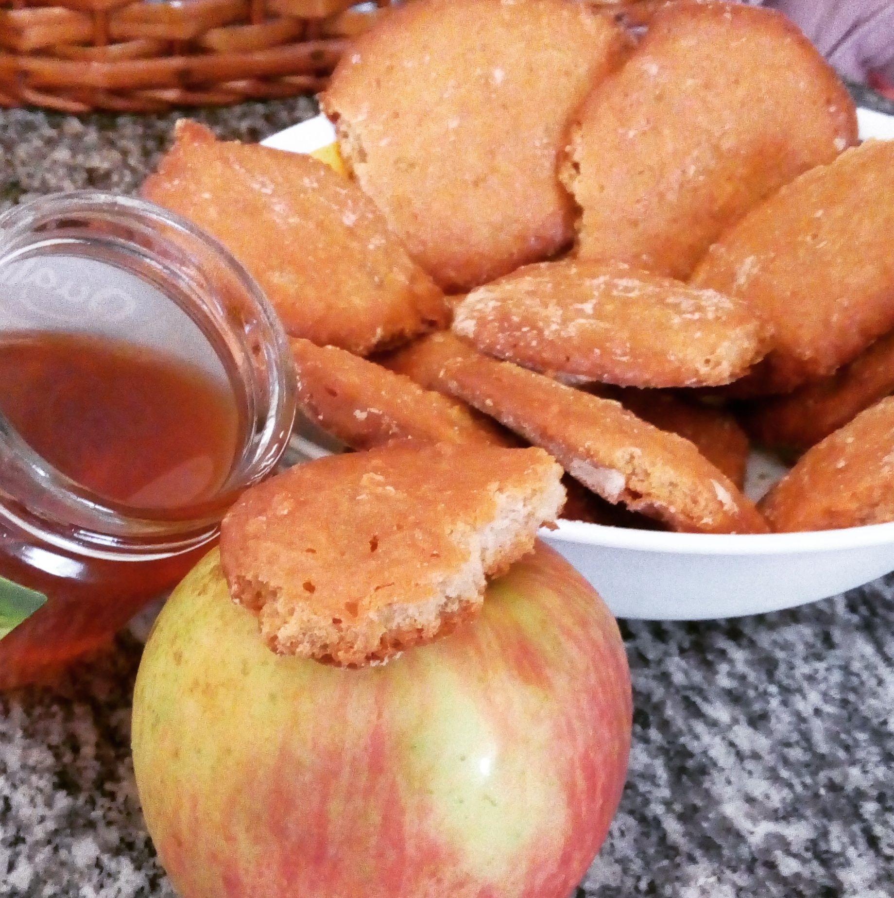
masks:
<svg viewBox="0 0 894 898"><path fill-rule="evenodd" d="M143 196L213 234L295 337L366 355L443 327L441 291L355 184L311 156L180 120Z"/></svg>

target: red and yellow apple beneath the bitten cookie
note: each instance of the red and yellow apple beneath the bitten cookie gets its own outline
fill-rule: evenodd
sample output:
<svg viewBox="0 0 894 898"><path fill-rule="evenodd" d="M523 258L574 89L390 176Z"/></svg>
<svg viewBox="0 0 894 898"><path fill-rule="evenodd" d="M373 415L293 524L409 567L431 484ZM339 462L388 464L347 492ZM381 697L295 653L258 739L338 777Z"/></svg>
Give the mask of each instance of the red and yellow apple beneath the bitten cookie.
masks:
<svg viewBox="0 0 894 898"><path fill-rule="evenodd" d="M215 551L146 645L136 783L184 898L567 898L631 713L614 619L541 542L475 621L362 670L271 652Z"/></svg>

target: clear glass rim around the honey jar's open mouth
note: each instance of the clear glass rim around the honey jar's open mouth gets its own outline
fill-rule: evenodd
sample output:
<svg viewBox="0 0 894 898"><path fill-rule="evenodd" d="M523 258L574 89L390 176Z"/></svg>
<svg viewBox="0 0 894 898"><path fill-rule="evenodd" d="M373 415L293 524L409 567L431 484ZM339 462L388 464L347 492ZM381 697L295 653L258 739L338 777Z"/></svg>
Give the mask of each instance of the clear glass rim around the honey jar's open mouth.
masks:
<svg viewBox="0 0 894 898"><path fill-rule="evenodd" d="M179 278L179 291L160 292L172 303L189 304L183 311L197 324L228 374L234 369L241 374L243 399L249 405L247 432L229 476L214 497L156 511L101 497L70 479L36 453L0 415L0 454L19 462L20 486L27 482L31 490L39 490L40 497L39 507L33 507L33 502L25 507L16 501L8 483L0 482L0 514L32 532L37 529L41 538L54 544L92 555L110 553L118 559L122 552L142 557L195 548L214 538L226 508L242 490L274 470L288 444L296 382L285 330L257 281L221 242L143 198L74 190L7 210L0 215L0 271L9 262L22 260L30 248L46 247L54 226L66 233L73 228L77 232L73 223L82 220L113 232L118 229L119 249L129 245L147 259L154 255L159 272L166 270L171 283ZM101 232L91 232L90 237L103 239ZM159 247L168 254L165 258L153 252ZM199 260L214 269L213 276ZM120 267L127 269L124 264ZM221 279L215 282L215 278Z"/></svg>

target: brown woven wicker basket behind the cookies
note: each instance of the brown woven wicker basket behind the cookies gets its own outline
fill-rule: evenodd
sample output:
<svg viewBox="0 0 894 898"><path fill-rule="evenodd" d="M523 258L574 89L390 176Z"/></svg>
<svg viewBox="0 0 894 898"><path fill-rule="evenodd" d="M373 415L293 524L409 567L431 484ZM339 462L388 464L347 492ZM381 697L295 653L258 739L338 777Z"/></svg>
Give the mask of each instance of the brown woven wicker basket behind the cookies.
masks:
<svg viewBox="0 0 894 898"><path fill-rule="evenodd" d="M0 106L155 112L319 91L389 0L9 0Z"/></svg>

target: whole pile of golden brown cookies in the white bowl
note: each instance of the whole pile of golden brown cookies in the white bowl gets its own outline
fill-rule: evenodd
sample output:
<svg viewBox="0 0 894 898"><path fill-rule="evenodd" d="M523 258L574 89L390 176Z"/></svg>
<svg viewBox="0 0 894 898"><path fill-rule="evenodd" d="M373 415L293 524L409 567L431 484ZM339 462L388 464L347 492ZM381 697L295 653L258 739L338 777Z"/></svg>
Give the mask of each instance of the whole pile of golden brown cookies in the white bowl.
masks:
<svg viewBox="0 0 894 898"><path fill-rule="evenodd" d="M894 519L894 402L860 415L894 391L894 144L855 146L784 17L416 0L321 105L350 179L183 123L144 192L259 280L347 446L539 446L603 524ZM755 507L751 439L820 445Z"/></svg>

